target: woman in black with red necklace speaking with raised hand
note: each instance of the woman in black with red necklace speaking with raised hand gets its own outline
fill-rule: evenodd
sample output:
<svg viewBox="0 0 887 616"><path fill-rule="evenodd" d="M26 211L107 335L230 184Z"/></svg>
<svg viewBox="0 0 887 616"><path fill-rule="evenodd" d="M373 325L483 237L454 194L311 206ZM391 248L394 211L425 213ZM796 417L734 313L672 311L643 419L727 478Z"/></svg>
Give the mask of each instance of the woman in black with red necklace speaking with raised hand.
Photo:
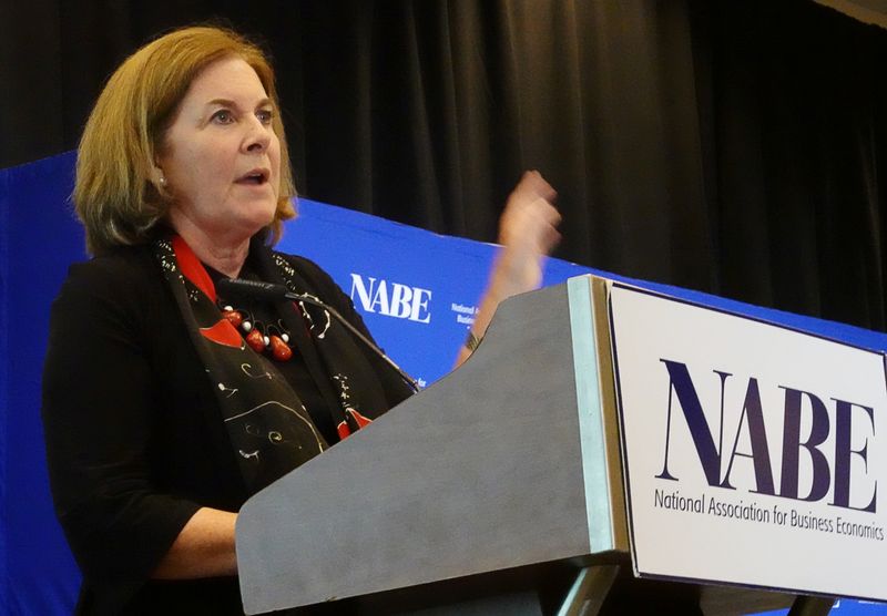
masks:
<svg viewBox="0 0 887 616"><path fill-rule="evenodd" d="M94 258L53 305L43 382L80 613L241 613L244 501L411 393L324 310L216 291L285 284L366 332L324 271L268 248L294 216L278 110L255 45L188 28L129 58L84 130L74 202ZM538 285L552 197L532 173L509 198L473 339Z"/></svg>

